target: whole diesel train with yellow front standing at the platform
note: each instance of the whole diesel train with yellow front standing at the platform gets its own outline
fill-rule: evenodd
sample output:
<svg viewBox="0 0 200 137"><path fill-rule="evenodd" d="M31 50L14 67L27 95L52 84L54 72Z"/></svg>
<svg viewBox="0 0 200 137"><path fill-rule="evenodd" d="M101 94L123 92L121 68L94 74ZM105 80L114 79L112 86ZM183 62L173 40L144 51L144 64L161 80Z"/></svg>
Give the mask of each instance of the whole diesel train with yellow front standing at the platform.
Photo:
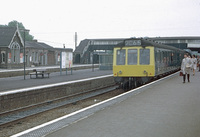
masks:
<svg viewBox="0 0 200 137"><path fill-rule="evenodd" d="M113 76L122 88L134 88L180 70L185 51L145 39L126 39L114 48Z"/></svg>

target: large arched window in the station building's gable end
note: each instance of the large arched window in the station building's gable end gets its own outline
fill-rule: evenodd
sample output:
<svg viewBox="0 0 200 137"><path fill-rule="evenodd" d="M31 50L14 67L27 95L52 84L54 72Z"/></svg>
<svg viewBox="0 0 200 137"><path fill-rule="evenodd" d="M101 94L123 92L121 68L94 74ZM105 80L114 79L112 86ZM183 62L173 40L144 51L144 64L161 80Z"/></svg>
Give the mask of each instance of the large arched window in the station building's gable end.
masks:
<svg viewBox="0 0 200 137"><path fill-rule="evenodd" d="M20 46L17 42L13 42L11 45L11 62L20 63Z"/></svg>

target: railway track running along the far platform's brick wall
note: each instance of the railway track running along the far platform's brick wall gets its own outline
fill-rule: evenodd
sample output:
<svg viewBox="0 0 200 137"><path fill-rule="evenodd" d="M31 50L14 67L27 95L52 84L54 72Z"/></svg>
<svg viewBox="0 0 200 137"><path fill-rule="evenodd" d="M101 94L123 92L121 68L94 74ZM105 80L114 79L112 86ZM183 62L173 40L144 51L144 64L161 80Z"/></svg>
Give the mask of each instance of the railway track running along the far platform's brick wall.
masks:
<svg viewBox="0 0 200 137"><path fill-rule="evenodd" d="M91 97L95 97L104 93L118 88L117 85L105 87L102 89L95 89L90 91L81 92L78 94L73 94L70 96L65 96L62 98L50 100L47 102L33 104L24 108L15 109L12 111L0 113L0 127L5 125L10 125L12 123L17 123L22 119L29 118L31 116L36 116L37 114L47 112L52 109L56 109L69 104L76 104L76 102L85 100Z"/></svg>

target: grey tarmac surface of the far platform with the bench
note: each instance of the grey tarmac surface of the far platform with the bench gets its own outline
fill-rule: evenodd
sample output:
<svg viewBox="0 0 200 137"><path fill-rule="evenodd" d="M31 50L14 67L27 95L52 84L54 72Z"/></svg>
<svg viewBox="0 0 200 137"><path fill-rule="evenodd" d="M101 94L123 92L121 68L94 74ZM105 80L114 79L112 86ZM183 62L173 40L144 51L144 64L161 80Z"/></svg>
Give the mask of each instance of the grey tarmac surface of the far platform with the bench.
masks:
<svg viewBox="0 0 200 137"><path fill-rule="evenodd" d="M60 72L54 72L50 74L49 78L30 79L29 75L26 75L26 80L24 80L24 76L0 78L0 92L34 87L34 86L41 86L46 84L55 84L60 82L80 80L80 79L110 75L110 74L112 74L112 70L94 69L94 71L92 71L92 69L82 69L82 70L73 70L72 75L71 72L69 71L67 75L65 71L62 72L62 75L60 74Z"/></svg>

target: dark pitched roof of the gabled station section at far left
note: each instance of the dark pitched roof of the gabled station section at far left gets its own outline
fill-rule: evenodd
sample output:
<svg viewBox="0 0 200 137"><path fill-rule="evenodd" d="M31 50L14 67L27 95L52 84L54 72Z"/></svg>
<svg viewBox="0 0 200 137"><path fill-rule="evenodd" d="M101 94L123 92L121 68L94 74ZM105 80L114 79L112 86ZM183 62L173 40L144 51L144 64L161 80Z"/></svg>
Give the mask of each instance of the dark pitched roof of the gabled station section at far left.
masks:
<svg viewBox="0 0 200 137"><path fill-rule="evenodd" d="M16 30L15 27L0 27L0 47L9 46Z"/></svg>

